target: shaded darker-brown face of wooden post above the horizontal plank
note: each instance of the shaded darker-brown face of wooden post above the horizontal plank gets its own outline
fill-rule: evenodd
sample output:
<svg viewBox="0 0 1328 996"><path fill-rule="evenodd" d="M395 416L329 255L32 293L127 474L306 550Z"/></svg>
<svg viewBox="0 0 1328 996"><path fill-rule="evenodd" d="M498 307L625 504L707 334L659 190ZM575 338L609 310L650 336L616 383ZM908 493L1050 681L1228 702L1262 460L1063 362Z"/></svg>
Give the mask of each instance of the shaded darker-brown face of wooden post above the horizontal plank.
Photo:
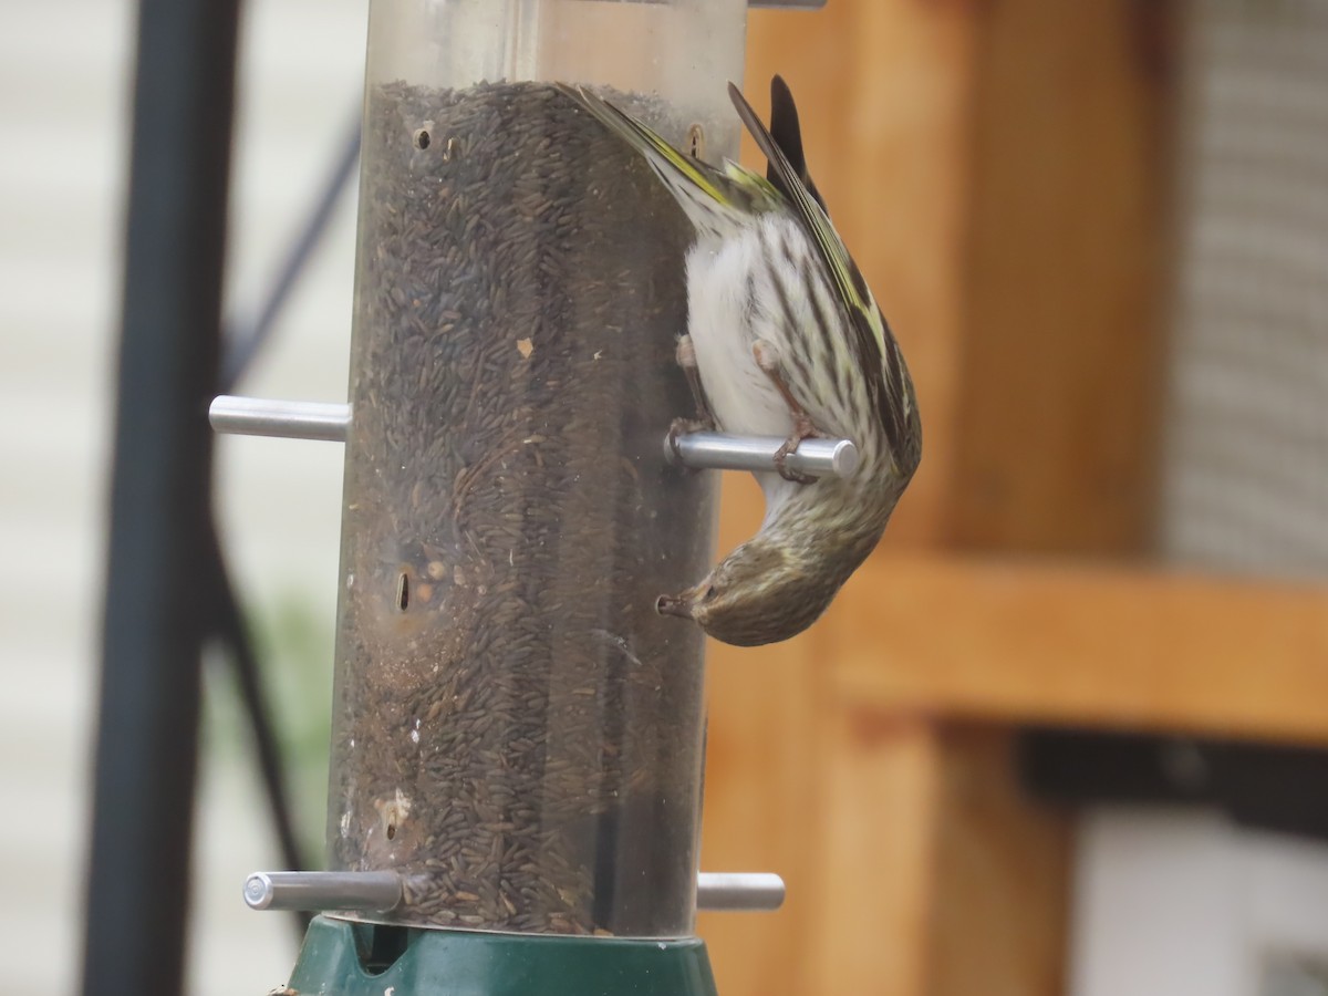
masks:
<svg viewBox="0 0 1328 996"><path fill-rule="evenodd" d="M1159 438L1173 4L981 8L946 539L1138 551Z"/></svg>

